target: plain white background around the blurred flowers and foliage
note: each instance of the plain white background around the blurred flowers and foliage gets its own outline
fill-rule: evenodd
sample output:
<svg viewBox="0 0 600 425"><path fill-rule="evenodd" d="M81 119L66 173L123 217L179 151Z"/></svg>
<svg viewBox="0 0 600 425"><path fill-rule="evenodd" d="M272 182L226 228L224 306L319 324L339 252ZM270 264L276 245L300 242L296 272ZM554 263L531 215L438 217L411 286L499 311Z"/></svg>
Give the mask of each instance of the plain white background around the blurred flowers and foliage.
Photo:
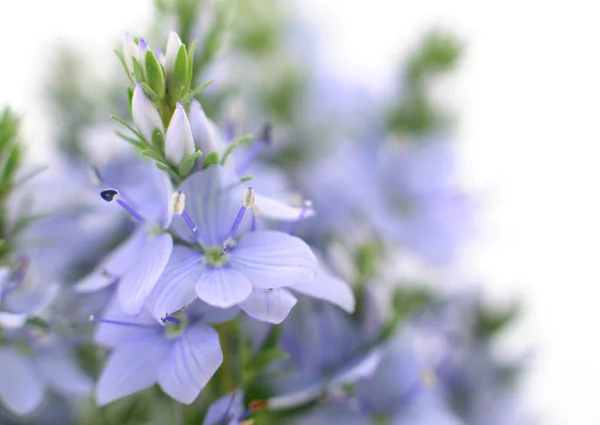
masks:
<svg viewBox="0 0 600 425"><path fill-rule="evenodd" d="M0 103L46 140L36 100L46 61L78 42L113 60L113 40L150 21L150 1L0 0ZM483 232L465 264L490 296L515 294L516 345L536 348L528 405L550 425L600 424L600 62L594 2L311 0L323 54L373 84L425 29L455 30L467 56L453 85L465 183L482 194ZM103 53L99 53L103 52ZM100 60L100 59L99 59Z"/></svg>

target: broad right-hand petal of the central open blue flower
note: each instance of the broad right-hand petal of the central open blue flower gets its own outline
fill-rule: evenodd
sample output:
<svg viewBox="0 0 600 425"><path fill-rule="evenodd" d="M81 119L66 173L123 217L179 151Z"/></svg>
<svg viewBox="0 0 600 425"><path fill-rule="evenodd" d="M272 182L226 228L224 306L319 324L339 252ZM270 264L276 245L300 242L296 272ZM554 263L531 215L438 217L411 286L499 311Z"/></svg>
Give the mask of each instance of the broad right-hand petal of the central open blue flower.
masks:
<svg viewBox="0 0 600 425"><path fill-rule="evenodd" d="M229 263L264 289L310 282L317 270L317 259L302 239L276 231L243 236L231 250Z"/></svg>

